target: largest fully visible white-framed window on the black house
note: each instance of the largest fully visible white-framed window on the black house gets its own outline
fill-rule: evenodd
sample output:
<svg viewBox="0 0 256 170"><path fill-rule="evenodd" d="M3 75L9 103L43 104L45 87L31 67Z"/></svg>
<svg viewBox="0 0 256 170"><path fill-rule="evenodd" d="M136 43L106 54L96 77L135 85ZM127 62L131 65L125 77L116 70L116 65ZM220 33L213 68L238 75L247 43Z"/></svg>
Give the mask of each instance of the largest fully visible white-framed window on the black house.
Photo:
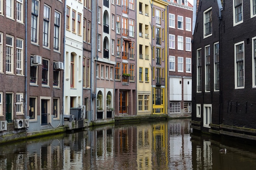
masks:
<svg viewBox="0 0 256 170"><path fill-rule="evenodd" d="M238 42L235 44L235 87L243 88L244 79L244 42Z"/></svg>

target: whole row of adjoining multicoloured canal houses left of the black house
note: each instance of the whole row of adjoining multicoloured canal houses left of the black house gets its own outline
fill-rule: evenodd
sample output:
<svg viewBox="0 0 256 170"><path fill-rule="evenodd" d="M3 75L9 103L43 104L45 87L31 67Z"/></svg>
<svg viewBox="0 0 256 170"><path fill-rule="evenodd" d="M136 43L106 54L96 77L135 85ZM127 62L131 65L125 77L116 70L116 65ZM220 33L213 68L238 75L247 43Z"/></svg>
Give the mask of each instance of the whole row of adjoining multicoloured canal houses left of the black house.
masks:
<svg viewBox="0 0 256 170"><path fill-rule="evenodd" d="M0 1L2 141L191 115L186 0Z"/></svg>

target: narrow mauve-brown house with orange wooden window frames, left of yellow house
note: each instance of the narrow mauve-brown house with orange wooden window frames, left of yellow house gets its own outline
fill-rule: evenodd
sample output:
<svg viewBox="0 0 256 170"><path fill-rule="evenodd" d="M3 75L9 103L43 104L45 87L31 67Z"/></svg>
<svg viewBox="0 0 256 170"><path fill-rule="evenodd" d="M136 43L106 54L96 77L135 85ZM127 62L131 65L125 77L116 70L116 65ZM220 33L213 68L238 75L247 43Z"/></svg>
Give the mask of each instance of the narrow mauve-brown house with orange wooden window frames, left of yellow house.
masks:
<svg viewBox="0 0 256 170"><path fill-rule="evenodd" d="M117 1L116 15L112 13L111 29L116 31L115 46L115 115L136 115L136 10L134 0Z"/></svg>

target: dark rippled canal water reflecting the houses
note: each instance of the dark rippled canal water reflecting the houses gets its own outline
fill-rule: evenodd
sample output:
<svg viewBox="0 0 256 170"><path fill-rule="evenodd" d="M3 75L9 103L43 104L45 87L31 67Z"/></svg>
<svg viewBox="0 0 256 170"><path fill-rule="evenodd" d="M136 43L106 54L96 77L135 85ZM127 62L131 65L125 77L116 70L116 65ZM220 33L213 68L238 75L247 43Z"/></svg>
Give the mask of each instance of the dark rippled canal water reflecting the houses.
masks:
<svg viewBox="0 0 256 170"><path fill-rule="evenodd" d="M253 142L196 134L189 121L106 125L0 145L0 170L256 168Z"/></svg>

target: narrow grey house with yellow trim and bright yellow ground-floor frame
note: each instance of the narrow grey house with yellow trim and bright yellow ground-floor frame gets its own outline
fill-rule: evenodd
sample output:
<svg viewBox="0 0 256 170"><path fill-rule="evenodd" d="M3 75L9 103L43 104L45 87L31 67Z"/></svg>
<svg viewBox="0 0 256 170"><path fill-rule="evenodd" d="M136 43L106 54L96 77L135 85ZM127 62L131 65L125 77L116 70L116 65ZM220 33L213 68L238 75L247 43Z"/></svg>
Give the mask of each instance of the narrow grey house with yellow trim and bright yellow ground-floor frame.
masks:
<svg viewBox="0 0 256 170"><path fill-rule="evenodd" d="M167 104L167 32L168 32L168 3L162 0L152 0L152 58L149 68L145 68L145 81L152 85L152 113L166 114ZM146 60L146 58L145 58ZM146 72L151 70L151 78L146 77Z"/></svg>

